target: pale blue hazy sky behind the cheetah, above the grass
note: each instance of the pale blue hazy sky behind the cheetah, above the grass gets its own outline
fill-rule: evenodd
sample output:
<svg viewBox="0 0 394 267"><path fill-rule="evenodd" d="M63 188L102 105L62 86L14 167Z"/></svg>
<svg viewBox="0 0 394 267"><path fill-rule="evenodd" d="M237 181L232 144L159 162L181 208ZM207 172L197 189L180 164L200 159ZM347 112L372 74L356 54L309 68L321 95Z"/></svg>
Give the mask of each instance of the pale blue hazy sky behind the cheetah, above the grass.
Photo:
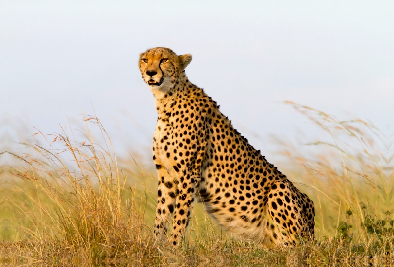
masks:
<svg viewBox="0 0 394 267"><path fill-rule="evenodd" d="M1 0L0 132L57 132L93 103L117 146L149 145L156 112L137 61L165 46L193 55L189 79L258 149L253 132L315 133L285 100L392 133L393 14L394 1Z"/></svg>

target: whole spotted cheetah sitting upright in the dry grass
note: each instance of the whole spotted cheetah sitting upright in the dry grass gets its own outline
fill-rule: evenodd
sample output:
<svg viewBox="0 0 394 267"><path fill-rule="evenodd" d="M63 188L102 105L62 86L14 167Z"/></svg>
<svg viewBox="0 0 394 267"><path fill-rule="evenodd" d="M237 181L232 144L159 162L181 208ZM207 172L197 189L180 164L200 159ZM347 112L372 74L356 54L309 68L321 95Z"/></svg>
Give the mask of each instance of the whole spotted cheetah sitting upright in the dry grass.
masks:
<svg viewBox="0 0 394 267"><path fill-rule="evenodd" d="M157 47L140 54L139 69L158 113L153 160L159 177L154 233L185 238L193 204L202 202L230 232L266 246L314 240L315 208L253 148L219 105L185 74L190 54ZM172 219L173 215L173 219Z"/></svg>

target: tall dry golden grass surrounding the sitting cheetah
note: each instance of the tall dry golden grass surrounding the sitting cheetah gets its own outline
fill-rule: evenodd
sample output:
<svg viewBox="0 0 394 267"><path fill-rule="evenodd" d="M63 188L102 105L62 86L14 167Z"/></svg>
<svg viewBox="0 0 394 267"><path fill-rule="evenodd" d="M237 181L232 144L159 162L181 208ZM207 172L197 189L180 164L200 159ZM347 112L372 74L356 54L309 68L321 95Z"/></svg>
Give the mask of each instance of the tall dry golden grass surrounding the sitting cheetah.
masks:
<svg viewBox="0 0 394 267"><path fill-rule="evenodd" d="M152 234L156 173L140 157L117 159L95 116L84 131L40 131L25 153L3 153L0 168L1 263L91 266L322 266L384 265L393 258L393 181L390 146L373 125L338 121L293 105L330 136L309 149L280 143L286 173L316 207L318 242L268 250L225 233L194 208L179 249ZM93 127L92 127L93 126ZM99 136L99 137L95 137ZM381 143L380 143L381 142ZM42 144L41 144L42 143ZM300 151L306 151L301 153Z"/></svg>

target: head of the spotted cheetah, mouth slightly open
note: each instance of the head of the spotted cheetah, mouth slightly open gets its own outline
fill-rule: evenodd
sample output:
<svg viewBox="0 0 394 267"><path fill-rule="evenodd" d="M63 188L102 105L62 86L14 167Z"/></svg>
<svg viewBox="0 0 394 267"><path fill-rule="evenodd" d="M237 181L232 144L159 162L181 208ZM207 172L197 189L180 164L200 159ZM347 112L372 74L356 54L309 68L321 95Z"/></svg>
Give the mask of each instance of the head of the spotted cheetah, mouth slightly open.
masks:
<svg viewBox="0 0 394 267"><path fill-rule="evenodd" d="M164 96L192 61L192 55L178 56L171 49L156 47L139 55L142 78L156 96Z"/></svg>

